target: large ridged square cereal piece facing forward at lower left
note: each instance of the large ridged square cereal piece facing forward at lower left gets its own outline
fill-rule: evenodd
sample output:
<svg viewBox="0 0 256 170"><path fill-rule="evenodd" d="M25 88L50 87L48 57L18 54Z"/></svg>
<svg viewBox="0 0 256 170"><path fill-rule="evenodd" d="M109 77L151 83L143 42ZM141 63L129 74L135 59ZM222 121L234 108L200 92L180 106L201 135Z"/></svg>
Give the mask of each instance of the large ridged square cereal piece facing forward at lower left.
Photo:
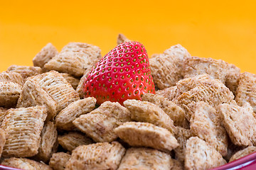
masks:
<svg viewBox="0 0 256 170"><path fill-rule="evenodd" d="M6 131L3 157L33 157L38 153L40 134L46 120L46 108L11 108L1 128Z"/></svg>

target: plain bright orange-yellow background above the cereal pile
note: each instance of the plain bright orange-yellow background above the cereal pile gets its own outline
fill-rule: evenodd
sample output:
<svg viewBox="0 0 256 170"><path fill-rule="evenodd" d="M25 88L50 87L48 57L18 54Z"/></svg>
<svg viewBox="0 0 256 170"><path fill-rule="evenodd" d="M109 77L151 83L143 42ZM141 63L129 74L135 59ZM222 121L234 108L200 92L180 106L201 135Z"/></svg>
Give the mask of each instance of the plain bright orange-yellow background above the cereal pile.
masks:
<svg viewBox="0 0 256 170"><path fill-rule="evenodd" d="M191 55L256 74L256 1L1 1L0 72L32 65L48 42L60 50L87 42L111 50L117 34L142 42L149 56L180 43Z"/></svg>

